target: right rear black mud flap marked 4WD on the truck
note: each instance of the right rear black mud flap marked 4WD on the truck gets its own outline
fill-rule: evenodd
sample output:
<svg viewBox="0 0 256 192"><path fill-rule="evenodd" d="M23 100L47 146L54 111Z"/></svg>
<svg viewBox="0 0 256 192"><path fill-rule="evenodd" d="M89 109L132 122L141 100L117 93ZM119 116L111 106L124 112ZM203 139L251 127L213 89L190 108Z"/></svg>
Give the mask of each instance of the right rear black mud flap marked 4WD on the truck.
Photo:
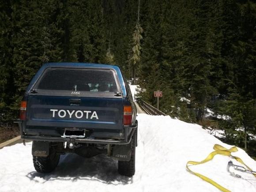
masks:
<svg viewBox="0 0 256 192"><path fill-rule="evenodd" d="M112 157L120 161L130 161L132 152L132 141L128 145L114 145Z"/></svg>

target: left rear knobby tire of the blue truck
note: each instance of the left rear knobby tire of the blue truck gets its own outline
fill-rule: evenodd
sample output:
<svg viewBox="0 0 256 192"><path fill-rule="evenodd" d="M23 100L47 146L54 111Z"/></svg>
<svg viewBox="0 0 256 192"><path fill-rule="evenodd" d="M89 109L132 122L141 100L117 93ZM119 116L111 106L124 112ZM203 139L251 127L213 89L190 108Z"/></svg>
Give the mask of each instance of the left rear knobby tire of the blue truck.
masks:
<svg viewBox="0 0 256 192"><path fill-rule="evenodd" d="M52 172L60 161L60 154L57 154L54 147L50 147L50 154L47 157L33 156L34 168L39 173Z"/></svg>

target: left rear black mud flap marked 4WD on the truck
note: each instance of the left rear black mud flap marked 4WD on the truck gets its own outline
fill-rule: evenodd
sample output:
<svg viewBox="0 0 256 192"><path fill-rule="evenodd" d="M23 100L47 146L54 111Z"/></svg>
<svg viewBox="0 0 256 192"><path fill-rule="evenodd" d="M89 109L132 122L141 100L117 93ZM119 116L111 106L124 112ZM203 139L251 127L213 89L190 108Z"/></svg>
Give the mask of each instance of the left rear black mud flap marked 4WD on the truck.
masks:
<svg viewBox="0 0 256 192"><path fill-rule="evenodd" d="M49 156L50 145L47 141L33 141L32 155L37 157Z"/></svg>

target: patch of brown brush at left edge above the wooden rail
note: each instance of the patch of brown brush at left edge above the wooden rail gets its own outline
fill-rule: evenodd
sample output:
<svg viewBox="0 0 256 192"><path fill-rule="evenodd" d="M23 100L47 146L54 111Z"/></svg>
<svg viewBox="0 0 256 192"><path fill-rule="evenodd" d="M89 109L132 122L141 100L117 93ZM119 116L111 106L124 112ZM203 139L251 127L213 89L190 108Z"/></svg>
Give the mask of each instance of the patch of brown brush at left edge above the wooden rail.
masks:
<svg viewBox="0 0 256 192"><path fill-rule="evenodd" d="M19 136L18 126L0 126L0 143Z"/></svg>

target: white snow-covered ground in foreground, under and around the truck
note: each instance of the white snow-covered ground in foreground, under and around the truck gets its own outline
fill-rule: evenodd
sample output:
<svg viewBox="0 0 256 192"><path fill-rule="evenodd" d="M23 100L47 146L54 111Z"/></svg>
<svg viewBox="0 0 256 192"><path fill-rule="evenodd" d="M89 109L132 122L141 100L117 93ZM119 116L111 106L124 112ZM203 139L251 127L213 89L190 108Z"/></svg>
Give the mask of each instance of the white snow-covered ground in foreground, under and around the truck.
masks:
<svg viewBox="0 0 256 192"><path fill-rule="evenodd" d="M49 174L34 170L31 144L16 144L0 150L1 192L200 192L219 191L213 185L189 173L189 160L201 161L213 151L214 144L230 148L197 124L188 124L169 116L138 115L139 145L136 148L136 174L132 178L117 173L117 161L106 155L82 158L62 155L55 171ZM256 162L239 149L233 155L253 170ZM191 169L210 177L233 192L255 192L251 174L237 174L251 180L232 177L226 170L234 159L216 155L213 160Z"/></svg>

